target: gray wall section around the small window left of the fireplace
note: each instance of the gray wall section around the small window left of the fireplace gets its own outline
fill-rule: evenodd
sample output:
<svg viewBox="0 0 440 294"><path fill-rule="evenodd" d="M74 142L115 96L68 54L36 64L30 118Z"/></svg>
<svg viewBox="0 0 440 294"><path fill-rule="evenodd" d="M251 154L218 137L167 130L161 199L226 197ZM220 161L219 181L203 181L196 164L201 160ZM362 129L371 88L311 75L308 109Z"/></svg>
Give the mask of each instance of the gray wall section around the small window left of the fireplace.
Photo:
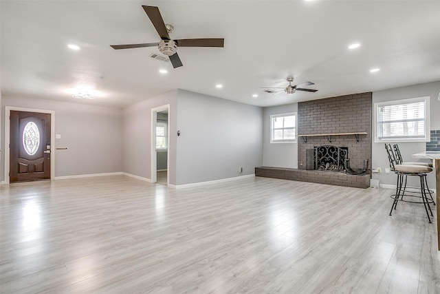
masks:
<svg viewBox="0 0 440 294"><path fill-rule="evenodd" d="M265 167L298 168L298 140L297 143L270 143L270 116L288 112L298 112L298 103L263 109L263 166ZM296 132L298 133L298 120L296 121Z"/></svg>

